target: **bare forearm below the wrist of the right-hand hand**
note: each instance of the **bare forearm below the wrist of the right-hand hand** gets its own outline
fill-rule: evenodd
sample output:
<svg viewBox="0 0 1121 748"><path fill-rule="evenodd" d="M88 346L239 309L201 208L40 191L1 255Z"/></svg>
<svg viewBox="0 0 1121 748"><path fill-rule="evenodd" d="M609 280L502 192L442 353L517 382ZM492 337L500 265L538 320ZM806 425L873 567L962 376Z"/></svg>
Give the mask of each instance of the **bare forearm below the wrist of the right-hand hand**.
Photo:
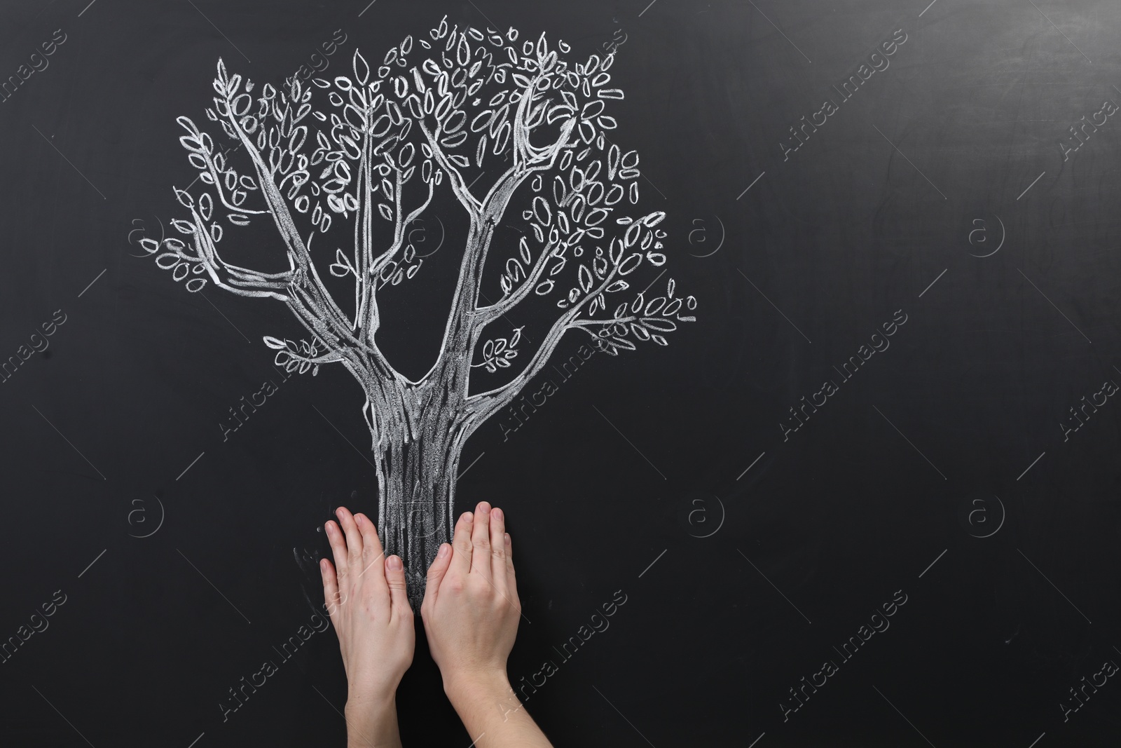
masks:
<svg viewBox="0 0 1121 748"><path fill-rule="evenodd" d="M504 673L445 683L444 692L479 748L552 748Z"/></svg>

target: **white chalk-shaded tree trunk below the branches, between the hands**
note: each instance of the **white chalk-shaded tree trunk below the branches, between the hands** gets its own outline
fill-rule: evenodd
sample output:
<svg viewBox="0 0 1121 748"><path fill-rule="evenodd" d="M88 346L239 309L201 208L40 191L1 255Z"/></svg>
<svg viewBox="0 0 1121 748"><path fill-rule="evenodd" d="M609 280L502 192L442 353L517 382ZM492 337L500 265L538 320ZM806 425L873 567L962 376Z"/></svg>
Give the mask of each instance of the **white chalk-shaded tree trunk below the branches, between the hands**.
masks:
<svg viewBox="0 0 1121 748"><path fill-rule="evenodd" d="M399 424L399 427L397 427ZM419 612L428 566L455 526L455 477L463 430L454 414L423 418L415 435L402 422L376 449L378 534L386 555L405 562L409 602Z"/></svg>

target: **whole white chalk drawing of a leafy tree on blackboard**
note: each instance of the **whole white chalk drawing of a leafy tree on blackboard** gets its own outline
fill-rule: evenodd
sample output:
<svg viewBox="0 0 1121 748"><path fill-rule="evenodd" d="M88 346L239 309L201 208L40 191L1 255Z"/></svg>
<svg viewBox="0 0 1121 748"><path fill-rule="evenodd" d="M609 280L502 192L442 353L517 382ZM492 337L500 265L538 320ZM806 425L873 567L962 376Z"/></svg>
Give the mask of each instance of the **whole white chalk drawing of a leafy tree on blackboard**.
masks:
<svg viewBox="0 0 1121 748"><path fill-rule="evenodd" d="M315 79L314 87L293 77L256 94L219 59L206 117L237 145L221 153L194 121L177 119L200 184L194 194L175 188L189 212L173 221L184 239L143 242L188 290L210 281L291 310L307 338L265 338L277 364L314 375L341 363L361 385L378 528L387 553L405 560L414 603L454 526L464 442L541 371L562 336L582 331L611 355L636 340L665 345L696 307L673 279L648 295L632 275L666 262L657 228L665 213L624 212L638 203L639 158L605 135L615 120L604 107L623 98L610 87L614 53L573 62L567 44L550 47L544 34L519 44L512 28L448 28L446 17L427 36L406 37L378 67L355 52L353 76ZM435 363L414 381L379 349L389 314L379 294L416 279L424 257L409 227L441 190L469 228L458 281L441 302L447 321ZM244 246L219 251L254 221L279 233L271 269L231 261ZM522 237L492 251L503 221ZM247 243L260 250L259 240ZM353 284L345 304L327 290L340 283ZM553 322L530 350L521 327L492 332L531 304ZM516 359L528 362L519 370Z"/></svg>

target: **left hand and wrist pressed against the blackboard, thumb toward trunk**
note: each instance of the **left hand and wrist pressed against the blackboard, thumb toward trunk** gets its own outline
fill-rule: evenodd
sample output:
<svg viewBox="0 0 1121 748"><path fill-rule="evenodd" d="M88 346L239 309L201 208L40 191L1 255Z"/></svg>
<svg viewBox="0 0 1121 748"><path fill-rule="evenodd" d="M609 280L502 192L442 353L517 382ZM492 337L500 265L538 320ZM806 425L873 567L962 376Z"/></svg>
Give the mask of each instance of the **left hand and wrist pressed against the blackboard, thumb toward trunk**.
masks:
<svg viewBox="0 0 1121 748"><path fill-rule="evenodd" d="M405 569L385 556L365 515L340 507L335 516L324 526L335 563L323 558L319 571L346 668L349 745L400 746L396 693L416 645Z"/></svg>

